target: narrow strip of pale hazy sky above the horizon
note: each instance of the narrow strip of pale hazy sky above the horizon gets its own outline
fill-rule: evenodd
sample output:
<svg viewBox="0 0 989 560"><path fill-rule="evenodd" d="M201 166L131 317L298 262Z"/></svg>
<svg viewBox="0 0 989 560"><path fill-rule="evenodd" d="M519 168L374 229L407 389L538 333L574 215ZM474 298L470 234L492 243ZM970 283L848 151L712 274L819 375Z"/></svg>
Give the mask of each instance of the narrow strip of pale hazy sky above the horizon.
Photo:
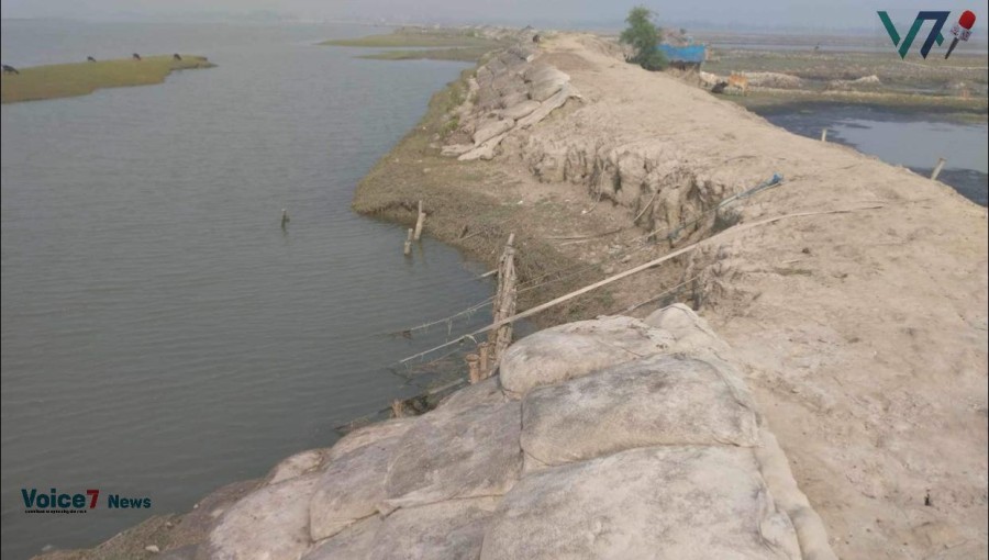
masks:
<svg viewBox="0 0 989 560"><path fill-rule="evenodd" d="M384 18L389 21L496 22L540 26L614 25L629 8L645 4L664 24L692 29L765 26L875 27L876 10L910 20L919 10L973 10L976 30L987 29L986 0L2 0L3 18L181 18L201 12L257 10L309 20ZM897 18L894 16L894 20ZM907 25L909 23L904 23Z"/></svg>

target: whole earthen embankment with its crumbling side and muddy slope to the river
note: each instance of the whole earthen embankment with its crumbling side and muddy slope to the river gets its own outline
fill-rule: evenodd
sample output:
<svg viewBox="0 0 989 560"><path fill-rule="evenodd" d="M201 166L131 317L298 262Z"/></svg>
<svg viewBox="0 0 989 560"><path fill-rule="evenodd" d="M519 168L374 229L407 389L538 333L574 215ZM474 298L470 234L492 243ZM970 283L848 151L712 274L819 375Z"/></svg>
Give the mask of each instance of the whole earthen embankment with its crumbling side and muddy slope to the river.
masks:
<svg viewBox="0 0 989 560"><path fill-rule="evenodd" d="M409 221L425 199L427 232L487 260L513 231L516 258L538 256L523 280L593 265L527 294L544 298L736 221L814 213L730 235L546 321L625 312L691 280L842 558L985 556L985 209L624 64L600 40L560 35L540 49L533 64L569 75L581 99L509 133L490 161L427 146L444 125L434 107L362 184L355 208ZM781 186L721 223L694 223L774 173ZM822 213L836 210L852 212ZM649 231L678 235L643 245Z"/></svg>

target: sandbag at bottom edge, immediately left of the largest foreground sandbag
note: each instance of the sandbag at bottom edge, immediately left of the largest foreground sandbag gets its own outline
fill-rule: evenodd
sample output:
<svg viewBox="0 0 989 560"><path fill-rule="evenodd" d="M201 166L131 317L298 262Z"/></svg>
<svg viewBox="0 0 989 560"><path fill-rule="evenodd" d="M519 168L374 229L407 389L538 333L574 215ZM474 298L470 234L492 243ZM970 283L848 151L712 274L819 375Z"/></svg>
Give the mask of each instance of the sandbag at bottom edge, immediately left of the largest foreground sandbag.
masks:
<svg viewBox="0 0 989 560"><path fill-rule="evenodd" d="M365 558L476 560L497 505L496 499L481 497L399 509L385 519Z"/></svg>

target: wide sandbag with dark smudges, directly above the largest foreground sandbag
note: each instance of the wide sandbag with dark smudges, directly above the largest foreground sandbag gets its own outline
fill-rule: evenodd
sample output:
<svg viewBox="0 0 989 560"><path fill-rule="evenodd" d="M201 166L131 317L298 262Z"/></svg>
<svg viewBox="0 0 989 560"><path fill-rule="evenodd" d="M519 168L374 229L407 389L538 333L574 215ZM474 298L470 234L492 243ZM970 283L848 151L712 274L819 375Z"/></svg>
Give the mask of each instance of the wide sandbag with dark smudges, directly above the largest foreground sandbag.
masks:
<svg viewBox="0 0 989 560"><path fill-rule="evenodd" d="M759 444L745 387L725 365L657 355L531 391L522 448L546 464L657 445Z"/></svg>

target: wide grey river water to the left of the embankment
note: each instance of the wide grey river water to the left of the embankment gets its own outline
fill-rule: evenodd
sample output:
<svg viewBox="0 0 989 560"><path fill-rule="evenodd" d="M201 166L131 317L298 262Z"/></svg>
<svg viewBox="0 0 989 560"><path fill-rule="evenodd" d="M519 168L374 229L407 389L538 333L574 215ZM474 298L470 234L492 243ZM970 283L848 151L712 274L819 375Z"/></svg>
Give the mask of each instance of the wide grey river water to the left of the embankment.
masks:
<svg viewBox="0 0 989 560"><path fill-rule="evenodd" d="M332 445L335 426L415 393L389 365L447 335L385 333L490 295L453 249L425 238L407 260L401 227L349 210L466 65L314 44L380 31L360 26L2 25L16 66L219 65L0 109L4 559L92 546ZM22 489L101 497L27 514ZM109 494L152 507L109 511Z"/></svg>

